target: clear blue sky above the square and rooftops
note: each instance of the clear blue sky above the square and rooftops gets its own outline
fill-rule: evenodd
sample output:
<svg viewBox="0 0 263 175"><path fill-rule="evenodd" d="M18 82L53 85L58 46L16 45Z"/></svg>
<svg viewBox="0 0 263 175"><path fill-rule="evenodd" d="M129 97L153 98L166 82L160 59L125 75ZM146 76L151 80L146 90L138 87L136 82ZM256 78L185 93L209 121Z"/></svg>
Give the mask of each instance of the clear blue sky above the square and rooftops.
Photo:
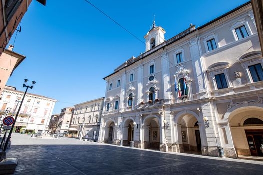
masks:
<svg viewBox="0 0 263 175"><path fill-rule="evenodd" d="M102 79L145 45L84 0L33 0L22 19L14 51L26 59L7 85L22 88L24 78L37 83L30 93L56 99L53 113L105 94ZM201 26L247 0L90 0L144 41L155 14L166 40ZM9 42L13 44L14 35Z"/></svg>

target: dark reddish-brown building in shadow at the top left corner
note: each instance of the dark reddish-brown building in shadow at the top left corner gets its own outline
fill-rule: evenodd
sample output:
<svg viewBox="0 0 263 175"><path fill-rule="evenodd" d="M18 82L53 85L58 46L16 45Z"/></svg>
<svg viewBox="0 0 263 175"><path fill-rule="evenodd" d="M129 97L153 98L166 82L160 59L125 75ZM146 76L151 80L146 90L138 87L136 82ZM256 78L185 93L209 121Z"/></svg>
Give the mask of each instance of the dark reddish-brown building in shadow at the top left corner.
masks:
<svg viewBox="0 0 263 175"><path fill-rule="evenodd" d="M45 5L46 0L37 0ZM0 56L32 0L2 0L0 3Z"/></svg>

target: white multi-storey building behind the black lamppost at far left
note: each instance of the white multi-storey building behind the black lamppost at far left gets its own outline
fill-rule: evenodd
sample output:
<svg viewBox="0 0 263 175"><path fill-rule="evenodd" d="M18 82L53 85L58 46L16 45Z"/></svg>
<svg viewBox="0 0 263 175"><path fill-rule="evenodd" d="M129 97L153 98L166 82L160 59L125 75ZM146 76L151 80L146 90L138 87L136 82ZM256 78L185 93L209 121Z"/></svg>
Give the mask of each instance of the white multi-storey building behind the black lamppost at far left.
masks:
<svg viewBox="0 0 263 175"><path fill-rule="evenodd" d="M16 90L15 87L6 86L3 90L2 100L0 101L0 114L5 115L6 109L10 108L8 116L16 115L24 92ZM33 130L38 133L44 133L48 130L48 124L55 106L56 100L27 93L18 118L15 123L15 132Z"/></svg>

